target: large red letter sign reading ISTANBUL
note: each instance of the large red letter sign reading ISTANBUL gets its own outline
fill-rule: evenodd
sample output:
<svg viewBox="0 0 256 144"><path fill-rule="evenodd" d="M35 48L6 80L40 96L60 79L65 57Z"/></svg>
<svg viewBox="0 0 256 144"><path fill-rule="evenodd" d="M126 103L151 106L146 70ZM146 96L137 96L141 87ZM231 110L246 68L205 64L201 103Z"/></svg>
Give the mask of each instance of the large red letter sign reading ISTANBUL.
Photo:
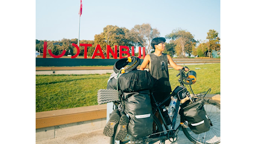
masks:
<svg viewBox="0 0 256 144"><path fill-rule="evenodd" d="M71 56L71 59L76 58L79 53L80 53L80 48L72 43L72 46L74 46L77 49L77 52L75 55ZM84 58L87 59L87 48L88 47L92 47L92 44L80 44L80 47L84 47L85 51L84 51ZM114 51L111 49L110 45L106 45L106 49L107 49L107 53L106 53L106 59L109 59L109 55L111 53L111 55L113 56L114 59L117 59L117 45L115 45ZM123 50L125 49L125 50ZM119 59L122 58L126 58L128 56L135 56L134 54L134 47L131 47L131 55L129 53L129 47L124 46L124 45L120 45L119 46ZM46 53L47 53L47 42L43 42L43 58L46 58ZM61 58L63 55L65 55L66 50L63 50L63 52L60 55L54 55L52 53L51 49L48 49L48 53L53 57L53 58ZM127 56L122 56L122 54L126 54ZM145 58L145 47L142 47L142 56L143 59ZM105 56L102 52L101 46L100 44L96 45L96 48L94 49L94 52L92 54L92 59L95 58L95 56L101 56L102 59L105 59ZM139 47L139 56L137 56L138 58L141 58L141 47Z"/></svg>

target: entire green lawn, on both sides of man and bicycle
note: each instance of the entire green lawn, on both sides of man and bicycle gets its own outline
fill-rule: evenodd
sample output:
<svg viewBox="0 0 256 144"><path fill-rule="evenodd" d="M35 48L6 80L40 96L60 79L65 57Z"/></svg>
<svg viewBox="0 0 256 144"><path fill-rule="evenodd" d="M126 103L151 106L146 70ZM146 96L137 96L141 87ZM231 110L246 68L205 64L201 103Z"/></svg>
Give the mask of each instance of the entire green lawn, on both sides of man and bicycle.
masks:
<svg viewBox="0 0 256 144"><path fill-rule="evenodd" d="M211 88L220 94L220 64L187 65L196 71L195 93ZM200 69L195 69L200 68ZM170 69L170 83L179 85L179 71ZM97 91L106 89L110 74L102 75L36 75L36 112L97 105Z"/></svg>

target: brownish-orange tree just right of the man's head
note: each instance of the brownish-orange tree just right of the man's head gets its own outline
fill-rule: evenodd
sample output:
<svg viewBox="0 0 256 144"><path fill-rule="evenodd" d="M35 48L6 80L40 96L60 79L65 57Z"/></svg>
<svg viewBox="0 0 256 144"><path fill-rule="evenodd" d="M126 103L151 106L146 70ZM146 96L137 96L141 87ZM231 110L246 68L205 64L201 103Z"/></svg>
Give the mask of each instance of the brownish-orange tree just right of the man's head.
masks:
<svg viewBox="0 0 256 144"><path fill-rule="evenodd" d="M191 54L193 45L198 43L194 36L187 30L181 28L174 29L172 33L165 35L166 38L174 40L177 55L185 57L185 54Z"/></svg>

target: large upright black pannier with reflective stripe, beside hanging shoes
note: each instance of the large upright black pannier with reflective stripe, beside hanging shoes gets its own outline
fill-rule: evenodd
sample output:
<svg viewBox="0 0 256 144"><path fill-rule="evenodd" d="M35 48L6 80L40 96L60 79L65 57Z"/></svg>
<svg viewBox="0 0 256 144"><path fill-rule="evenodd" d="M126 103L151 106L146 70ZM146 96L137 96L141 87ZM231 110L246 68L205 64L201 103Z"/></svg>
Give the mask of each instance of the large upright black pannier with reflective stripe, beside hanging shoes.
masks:
<svg viewBox="0 0 256 144"><path fill-rule="evenodd" d="M129 135L136 138L151 135L154 118L149 90L124 92L121 99L124 104L124 112L130 117L127 126Z"/></svg>

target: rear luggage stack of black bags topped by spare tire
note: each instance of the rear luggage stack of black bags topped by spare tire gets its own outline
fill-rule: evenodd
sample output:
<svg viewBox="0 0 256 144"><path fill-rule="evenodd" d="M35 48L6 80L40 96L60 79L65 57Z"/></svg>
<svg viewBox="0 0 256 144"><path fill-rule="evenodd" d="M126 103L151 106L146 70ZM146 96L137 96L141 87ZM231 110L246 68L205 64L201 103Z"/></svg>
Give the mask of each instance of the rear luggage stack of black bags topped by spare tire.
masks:
<svg viewBox="0 0 256 144"><path fill-rule="evenodd" d="M131 64L124 68L125 65ZM107 83L107 89L118 88L120 111L129 117L127 132L140 138L152 133L153 115L150 103L150 89L153 88L154 78L145 70L137 70L140 59L136 56L116 61L115 73L112 73ZM99 98L99 97L98 97ZM141 131L143 129L143 131Z"/></svg>

